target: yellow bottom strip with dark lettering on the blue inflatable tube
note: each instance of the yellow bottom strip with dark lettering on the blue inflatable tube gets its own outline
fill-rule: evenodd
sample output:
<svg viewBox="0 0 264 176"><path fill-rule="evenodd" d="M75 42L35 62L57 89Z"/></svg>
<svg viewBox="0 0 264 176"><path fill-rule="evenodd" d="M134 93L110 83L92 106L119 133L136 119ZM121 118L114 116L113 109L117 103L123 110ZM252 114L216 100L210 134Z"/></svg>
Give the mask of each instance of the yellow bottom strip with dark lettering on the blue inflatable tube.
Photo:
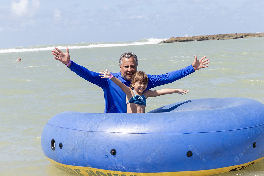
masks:
<svg viewBox="0 0 264 176"><path fill-rule="evenodd" d="M248 163L239 164L235 166L229 166L218 169L209 169L209 170L194 170L194 171L180 171L180 172L153 172L153 173L143 173L143 172L120 172L113 170L104 170L104 169L96 169L90 167L80 167L80 166L72 166L67 164L58 163L50 158L50 162L54 164L56 167L66 170L70 173L78 174L78 175L89 175L89 176L205 176L205 175L213 175L220 174L229 171L241 170L247 168L248 166L253 165L264 159L264 157L250 161Z"/></svg>

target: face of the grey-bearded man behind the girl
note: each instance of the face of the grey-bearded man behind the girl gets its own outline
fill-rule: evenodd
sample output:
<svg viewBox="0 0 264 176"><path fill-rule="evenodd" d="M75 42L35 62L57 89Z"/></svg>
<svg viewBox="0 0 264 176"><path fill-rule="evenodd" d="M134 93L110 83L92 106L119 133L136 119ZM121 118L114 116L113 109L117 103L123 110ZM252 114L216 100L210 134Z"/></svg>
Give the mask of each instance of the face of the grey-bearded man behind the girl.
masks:
<svg viewBox="0 0 264 176"><path fill-rule="evenodd" d="M138 65L136 64L134 57L123 58L123 63L122 65L119 65L119 67L121 76L127 81L131 81L133 74L138 71Z"/></svg>

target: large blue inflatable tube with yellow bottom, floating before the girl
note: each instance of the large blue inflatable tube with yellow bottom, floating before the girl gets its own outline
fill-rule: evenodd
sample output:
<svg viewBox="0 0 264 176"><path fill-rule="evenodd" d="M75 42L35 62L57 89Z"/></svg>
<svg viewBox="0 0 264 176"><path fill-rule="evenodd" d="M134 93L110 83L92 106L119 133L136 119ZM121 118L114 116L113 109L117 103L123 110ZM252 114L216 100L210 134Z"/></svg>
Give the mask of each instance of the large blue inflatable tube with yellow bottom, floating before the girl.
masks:
<svg viewBox="0 0 264 176"><path fill-rule="evenodd" d="M63 112L41 134L57 167L89 176L211 175L264 158L264 105L204 98L149 113Z"/></svg>

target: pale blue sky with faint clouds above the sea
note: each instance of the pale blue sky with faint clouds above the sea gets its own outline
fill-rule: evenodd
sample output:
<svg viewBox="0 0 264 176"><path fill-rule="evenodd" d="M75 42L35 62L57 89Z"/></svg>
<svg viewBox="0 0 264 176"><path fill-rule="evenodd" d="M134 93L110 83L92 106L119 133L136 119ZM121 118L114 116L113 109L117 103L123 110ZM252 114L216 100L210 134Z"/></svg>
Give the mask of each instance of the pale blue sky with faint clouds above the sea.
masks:
<svg viewBox="0 0 264 176"><path fill-rule="evenodd" d="M15 0L0 5L0 49L264 32L262 0Z"/></svg>

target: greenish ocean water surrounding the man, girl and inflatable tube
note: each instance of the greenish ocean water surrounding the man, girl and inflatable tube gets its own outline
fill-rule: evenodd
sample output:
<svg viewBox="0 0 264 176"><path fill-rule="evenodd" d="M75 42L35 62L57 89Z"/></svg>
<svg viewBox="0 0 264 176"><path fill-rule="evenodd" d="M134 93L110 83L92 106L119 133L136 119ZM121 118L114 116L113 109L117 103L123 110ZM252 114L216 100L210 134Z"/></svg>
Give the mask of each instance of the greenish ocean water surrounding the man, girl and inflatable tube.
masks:
<svg viewBox="0 0 264 176"><path fill-rule="evenodd" d="M71 59L99 72L119 72L123 52L138 56L138 70L162 74L190 65L196 55L210 59L174 83L156 87L187 89L189 93L148 98L146 112L197 98L246 97L264 103L264 38L159 44L165 39L115 43L60 44ZM82 79L53 59L53 45L0 49L0 175L73 175L56 168L40 146L45 123L64 111L103 113L101 88ZM23 62L16 62L20 57ZM216 174L218 175L218 174ZM264 161L244 170L219 175L264 175Z"/></svg>

